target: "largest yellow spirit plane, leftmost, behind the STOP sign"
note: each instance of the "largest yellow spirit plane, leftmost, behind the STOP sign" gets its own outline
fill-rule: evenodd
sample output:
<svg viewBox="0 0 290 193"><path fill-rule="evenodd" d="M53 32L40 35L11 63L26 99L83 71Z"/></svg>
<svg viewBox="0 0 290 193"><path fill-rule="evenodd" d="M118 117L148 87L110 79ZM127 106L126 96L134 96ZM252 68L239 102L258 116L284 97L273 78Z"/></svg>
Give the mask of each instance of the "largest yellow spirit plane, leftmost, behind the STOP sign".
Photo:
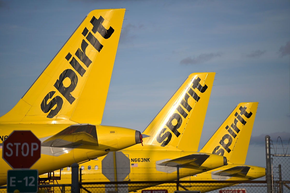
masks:
<svg viewBox="0 0 290 193"><path fill-rule="evenodd" d="M0 117L1 146L14 130L31 130L41 140L41 158L31 167L39 174L141 143L140 131L100 125L124 13L90 12L16 106ZM11 167L3 159L0 165L4 185Z"/></svg>

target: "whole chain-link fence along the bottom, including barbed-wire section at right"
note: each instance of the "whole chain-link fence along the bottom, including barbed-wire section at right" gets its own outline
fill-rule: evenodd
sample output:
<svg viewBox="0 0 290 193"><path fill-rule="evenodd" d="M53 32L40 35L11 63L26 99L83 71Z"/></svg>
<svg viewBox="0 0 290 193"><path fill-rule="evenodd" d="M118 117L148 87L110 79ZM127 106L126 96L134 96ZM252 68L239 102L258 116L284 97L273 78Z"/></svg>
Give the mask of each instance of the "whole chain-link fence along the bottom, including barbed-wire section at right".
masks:
<svg viewBox="0 0 290 193"><path fill-rule="evenodd" d="M290 154L289 141L281 138L274 142L271 140L271 172L272 192L290 193ZM286 145L285 145L286 144ZM78 167L77 167L78 170ZM81 174L81 173L80 173ZM154 175L153 175L154 176ZM95 179L99 181L100 179ZM49 183L48 183L49 182ZM71 184L57 184L57 180L40 182L39 190L48 193L79 192ZM78 180L76 181L78 182ZM121 181L121 182L80 182L81 193L174 193L180 191L200 191L212 193L249 193L267 192L266 181ZM74 184L73 184L74 185ZM270 186L271 187L271 186ZM142 192L143 190L143 192ZM6 192L6 186L0 187L0 193Z"/></svg>

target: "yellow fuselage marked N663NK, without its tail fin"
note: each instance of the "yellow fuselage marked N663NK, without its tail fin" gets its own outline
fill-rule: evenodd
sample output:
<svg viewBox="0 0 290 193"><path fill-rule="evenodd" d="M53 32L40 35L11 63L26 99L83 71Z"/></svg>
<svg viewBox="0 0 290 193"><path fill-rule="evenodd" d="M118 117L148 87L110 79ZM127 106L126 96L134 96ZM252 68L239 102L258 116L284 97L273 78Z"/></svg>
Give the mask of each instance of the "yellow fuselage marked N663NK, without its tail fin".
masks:
<svg viewBox="0 0 290 193"><path fill-rule="evenodd" d="M130 163L137 163L137 167L131 167L131 172L126 180L129 181L162 181L162 180L176 180L177 170L176 167L172 171L164 172L158 171L156 169L156 163L163 159L175 159L182 156L199 154L198 152L188 152L188 151L151 151L151 150L121 150L126 156L128 156ZM191 174L199 174L204 171L211 170L213 168L218 168L224 165L223 157L207 154L209 158L200 166L200 167L184 167L180 168L180 178L184 178ZM84 166L82 171L82 182L106 182L108 179L102 174L102 159L99 160L90 160L86 163L79 165ZM91 169L88 170L88 166L91 166ZM95 170L97 166L97 170ZM172 169L172 168L171 168ZM59 170L56 171L58 174ZM171 173L170 173L171 172ZM43 175L42 177L47 176ZM71 181L71 171L68 171L67 168L61 172L61 180L58 183L70 183ZM153 182L154 183L154 182ZM133 187L129 189L129 192L138 190L138 188Z"/></svg>

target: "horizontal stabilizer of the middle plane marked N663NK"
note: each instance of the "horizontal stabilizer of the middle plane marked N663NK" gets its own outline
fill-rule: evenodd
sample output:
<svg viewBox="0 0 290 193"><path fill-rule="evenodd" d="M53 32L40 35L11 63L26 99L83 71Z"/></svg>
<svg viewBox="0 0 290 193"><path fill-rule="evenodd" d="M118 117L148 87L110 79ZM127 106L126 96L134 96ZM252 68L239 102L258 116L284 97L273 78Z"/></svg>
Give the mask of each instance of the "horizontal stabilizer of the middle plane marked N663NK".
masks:
<svg viewBox="0 0 290 193"><path fill-rule="evenodd" d="M169 166L169 167L186 167L186 168L197 168L209 158L207 154L191 154L188 156L183 156L173 160L166 160L161 163L156 163L157 165Z"/></svg>

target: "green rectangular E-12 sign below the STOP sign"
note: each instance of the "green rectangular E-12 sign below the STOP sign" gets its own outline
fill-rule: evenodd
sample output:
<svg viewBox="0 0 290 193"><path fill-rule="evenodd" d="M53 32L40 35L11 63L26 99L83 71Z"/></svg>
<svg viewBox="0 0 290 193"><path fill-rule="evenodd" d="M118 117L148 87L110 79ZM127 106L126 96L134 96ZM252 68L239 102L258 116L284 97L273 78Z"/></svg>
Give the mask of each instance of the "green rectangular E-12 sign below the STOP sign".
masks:
<svg viewBox="0 0 290 193"><path fill-rule="evenodd" d="M13 193L19 190L19 193L37 192L38 170L8 170L7 172L7 192Z"/></svg>

